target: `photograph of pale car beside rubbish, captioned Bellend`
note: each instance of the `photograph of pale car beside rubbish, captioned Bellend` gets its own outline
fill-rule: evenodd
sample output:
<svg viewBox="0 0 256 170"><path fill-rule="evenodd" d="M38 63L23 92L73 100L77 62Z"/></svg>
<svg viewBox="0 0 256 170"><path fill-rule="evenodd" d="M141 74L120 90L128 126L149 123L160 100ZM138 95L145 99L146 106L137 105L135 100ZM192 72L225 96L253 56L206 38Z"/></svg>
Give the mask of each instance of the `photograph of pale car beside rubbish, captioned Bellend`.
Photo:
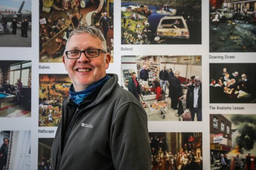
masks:
<svg viewBox="0 0 256 170"><path fill-rule="evenodd" d="M201 0L121 4L121 44L201 44Z"/></svg>

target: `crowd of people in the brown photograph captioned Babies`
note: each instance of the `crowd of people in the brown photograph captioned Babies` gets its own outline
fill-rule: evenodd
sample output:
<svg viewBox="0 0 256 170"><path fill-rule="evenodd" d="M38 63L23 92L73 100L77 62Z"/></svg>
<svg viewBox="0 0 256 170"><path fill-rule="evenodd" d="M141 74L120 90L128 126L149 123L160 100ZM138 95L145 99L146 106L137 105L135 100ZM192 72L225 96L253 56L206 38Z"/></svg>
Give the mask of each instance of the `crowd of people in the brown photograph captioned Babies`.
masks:
<svg viewBox="0 0 256 170"><path fill-rule="evenodd" d="M98 8L92 13L91 17L88 18L83 17L84 15L80 11L81 0L55 0L52 5L53 10L64 11L65 14L59 17L58 15L44 16L41 13L39 36L41 45L48 43L51 38L55 37L53 40L55 42L53 43L57 43L58 47L49 52L48 47L43 46L39 55L41 56L43 53L48 52L51 58L61 56L67 44L70 32L72 32L73 29L85 25L102 27L104 37L107 40L108 29L112 26L109 17L106 16L106 4L103 2L101 5L101 1L103 2L104 0L90 0L89 4L96 4ZM112 37L110 37L110 40L111 38ZM113 51L112 48L111 42L107 47L109 53Z"/></svg>

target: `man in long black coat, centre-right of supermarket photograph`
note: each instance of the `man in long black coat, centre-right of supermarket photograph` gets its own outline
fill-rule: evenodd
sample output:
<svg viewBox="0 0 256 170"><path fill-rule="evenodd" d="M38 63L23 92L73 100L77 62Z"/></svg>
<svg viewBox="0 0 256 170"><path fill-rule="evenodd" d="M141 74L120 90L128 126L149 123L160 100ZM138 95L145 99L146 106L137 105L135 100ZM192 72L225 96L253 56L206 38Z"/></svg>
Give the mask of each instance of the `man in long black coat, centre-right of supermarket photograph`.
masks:
<svg viewBox="0 0 256 170"><path fill-rule="evenodd" d="M181 83L178 80L179 71L174 72L174 76L171 77L172 93L171 93L171 108L178 110L178 98L182 96Z"/></svg>

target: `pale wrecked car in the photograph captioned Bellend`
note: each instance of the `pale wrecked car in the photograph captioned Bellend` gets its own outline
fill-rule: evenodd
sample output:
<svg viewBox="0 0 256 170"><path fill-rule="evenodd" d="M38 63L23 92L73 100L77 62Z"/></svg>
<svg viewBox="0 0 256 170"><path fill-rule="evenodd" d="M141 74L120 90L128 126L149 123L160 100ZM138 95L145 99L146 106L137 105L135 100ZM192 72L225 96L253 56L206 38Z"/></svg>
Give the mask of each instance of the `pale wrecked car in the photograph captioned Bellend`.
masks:
<svg viewBox="0 0 256 170"><path fill-rule="evenodd" d="M189 28L183 16L165 16L157 27L156 35L162 38L189 39ZM156 37L155 40L160 40Z"/></svg>

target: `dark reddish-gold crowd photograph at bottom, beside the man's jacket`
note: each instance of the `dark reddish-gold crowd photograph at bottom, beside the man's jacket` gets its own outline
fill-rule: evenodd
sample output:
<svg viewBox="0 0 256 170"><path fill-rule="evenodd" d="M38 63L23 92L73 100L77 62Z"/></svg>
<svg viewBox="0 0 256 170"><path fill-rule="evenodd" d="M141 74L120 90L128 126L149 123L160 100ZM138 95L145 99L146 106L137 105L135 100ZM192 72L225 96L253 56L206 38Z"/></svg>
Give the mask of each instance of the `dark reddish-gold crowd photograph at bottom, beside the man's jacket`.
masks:
<svg viewBox="0 0 256 170"><path fill-rule="evenodd" d="M151 170L203 170L202 133L149 133Z"/></svg>

